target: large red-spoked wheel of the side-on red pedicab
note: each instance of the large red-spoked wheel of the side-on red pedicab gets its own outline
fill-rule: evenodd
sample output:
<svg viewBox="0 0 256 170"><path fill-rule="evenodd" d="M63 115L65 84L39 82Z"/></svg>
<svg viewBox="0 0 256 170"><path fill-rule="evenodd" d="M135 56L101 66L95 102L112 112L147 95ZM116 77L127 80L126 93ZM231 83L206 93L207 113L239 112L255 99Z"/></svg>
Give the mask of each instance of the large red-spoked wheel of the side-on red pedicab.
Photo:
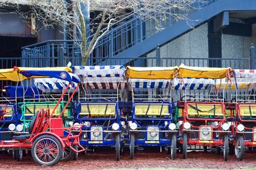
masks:
<svg viewBox="0 0 256 170"><path fill-rule="evenodd" d="M50 138L43 138L36 142L34 154L38 162L50 164L58 158L59 147L57 143Z"/></svg>

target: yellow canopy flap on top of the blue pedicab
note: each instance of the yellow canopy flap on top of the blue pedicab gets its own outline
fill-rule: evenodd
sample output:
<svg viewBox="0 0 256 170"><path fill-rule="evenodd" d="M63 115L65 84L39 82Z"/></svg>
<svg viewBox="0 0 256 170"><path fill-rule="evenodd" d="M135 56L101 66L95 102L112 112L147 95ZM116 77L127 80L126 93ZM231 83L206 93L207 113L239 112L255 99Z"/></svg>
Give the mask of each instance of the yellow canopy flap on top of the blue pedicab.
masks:
<svg viewBox="0 0 256 170"><path fill-rule="evenodd" d="M172 79L178 67L126 67L127 78Z"/></svg>

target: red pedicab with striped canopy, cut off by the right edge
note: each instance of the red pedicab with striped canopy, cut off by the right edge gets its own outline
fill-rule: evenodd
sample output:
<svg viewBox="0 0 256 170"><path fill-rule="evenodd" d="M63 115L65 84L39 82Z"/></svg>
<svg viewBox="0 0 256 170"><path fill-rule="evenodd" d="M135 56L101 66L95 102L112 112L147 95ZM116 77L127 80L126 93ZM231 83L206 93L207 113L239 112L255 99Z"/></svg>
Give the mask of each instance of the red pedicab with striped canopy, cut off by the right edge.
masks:
<svg viewBox="0 0 256 170"><path fill-rule="evenodd" d="M244 150L256 146L256 70L234 69L232 83L221 88L230 89L230 108L234 110L232 150L238 160L243 160Z"/></svg>

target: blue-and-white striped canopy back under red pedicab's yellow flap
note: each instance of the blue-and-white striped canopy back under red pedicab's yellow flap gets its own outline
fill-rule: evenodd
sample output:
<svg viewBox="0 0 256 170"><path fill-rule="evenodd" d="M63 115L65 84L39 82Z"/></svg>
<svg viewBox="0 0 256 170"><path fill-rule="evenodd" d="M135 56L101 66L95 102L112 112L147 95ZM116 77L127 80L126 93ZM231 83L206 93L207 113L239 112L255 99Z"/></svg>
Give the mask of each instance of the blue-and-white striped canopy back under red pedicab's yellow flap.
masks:
<svg viewBox="0 0 256 170"><path fill-rule="evenodd" d="M210 78L177 78L173 81L175 90L205 90L215 84Z"/></svg>

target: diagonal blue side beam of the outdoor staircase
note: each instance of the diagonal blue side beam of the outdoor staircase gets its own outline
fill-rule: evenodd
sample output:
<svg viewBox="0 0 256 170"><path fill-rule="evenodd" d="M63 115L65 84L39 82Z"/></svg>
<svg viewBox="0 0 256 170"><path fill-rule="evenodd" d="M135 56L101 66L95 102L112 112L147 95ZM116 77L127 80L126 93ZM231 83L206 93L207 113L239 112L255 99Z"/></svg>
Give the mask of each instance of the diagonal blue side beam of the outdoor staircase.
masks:
<svg viewBox="0 0 256 170"><path fill-rule="evenodd" d="M209 6L205 7L202 10L196 11L195 13L189 16L190 20L193 22L187 23L186 20L181 20L176 24L172 25L168 29L164 29L163 31L151 36L150 38L141 41L131 48L128 48L124 52L118 53L114 57L115 58L130 58L134 59L136 57L140 57L142 55L146 55L149 52L152 52L156 49L156 45L160 46L173 41L179 36L186 34L187 32L193 30L196 27L204 24L205 22L212 19L212 17L223 13L223 11L255 11L256 10L256 1L255 0L218 0ZM109 62L106 60L106 62ZM117 61L115 61L116 63ZM121 61L120 61L121 62ZM116 63L118 64L118 63ZM120 63L124 64L124 63Z"/></svg>

